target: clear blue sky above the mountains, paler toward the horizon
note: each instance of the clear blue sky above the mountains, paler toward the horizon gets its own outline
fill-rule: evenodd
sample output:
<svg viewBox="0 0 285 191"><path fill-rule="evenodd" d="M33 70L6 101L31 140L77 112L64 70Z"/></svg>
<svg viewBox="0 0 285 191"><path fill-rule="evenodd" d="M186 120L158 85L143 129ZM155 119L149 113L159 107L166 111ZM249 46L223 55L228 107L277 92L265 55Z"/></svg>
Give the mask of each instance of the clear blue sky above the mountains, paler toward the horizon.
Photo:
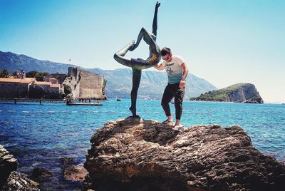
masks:
<svg viewBox="0 0 285 191"><path fill-rule="evenodd" d="M0 51L85 68L124 68L113 53L152 30L156 1L0 0ZM285 103L285 1L160 1L157 43L217 88L254 83ZM147 58L145 43L127 56ZM149 69L153 70L153 69Z"/></svg>

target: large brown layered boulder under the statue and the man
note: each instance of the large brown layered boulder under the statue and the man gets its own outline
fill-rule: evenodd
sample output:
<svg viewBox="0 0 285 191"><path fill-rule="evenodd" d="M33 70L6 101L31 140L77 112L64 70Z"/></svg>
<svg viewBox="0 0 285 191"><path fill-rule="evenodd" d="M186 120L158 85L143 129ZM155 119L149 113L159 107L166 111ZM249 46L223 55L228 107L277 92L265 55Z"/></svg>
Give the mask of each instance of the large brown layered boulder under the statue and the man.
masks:
<svg viewBox="0 0 285 191"><path fill-rule="evenodd" d="M91 138L84 190L285 190L285 165L239 126L179 131L153 120L106 123Z"/></svg>

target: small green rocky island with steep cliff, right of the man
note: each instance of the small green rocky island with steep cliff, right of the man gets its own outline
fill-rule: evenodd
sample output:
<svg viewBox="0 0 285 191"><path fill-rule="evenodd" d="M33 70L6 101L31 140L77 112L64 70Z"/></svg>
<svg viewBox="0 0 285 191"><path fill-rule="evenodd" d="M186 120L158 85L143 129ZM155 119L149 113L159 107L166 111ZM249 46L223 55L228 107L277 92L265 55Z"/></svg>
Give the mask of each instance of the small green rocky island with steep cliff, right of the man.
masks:
<svg viewBox="0 0 285 191"><path fill-rule="evenodd" d="M251 83L237 83L217 91L209 91L191 100L264 103L257 88Z"/></svg>

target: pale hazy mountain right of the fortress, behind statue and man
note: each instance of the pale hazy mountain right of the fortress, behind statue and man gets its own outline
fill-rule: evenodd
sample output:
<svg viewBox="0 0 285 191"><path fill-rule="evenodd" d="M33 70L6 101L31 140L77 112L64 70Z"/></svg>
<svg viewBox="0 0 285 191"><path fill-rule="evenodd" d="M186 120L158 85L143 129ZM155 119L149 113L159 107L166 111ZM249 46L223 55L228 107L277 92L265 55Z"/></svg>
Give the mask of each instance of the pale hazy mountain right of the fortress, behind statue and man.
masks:
<svg viewBox="0 0 285 191"><path fill-rule="evenodd" d="M133 75L131 69L102 70L100 68L94 68L90 69L90 71L103 75L107 80L106 91L109 97L130 97ZM192 98L207 91L217 90L211 83L191 73L188 74L186 83L185 98ZM167 73L165 71L142 71L138 95L141 98L161 98L166 85Z"/></svg>

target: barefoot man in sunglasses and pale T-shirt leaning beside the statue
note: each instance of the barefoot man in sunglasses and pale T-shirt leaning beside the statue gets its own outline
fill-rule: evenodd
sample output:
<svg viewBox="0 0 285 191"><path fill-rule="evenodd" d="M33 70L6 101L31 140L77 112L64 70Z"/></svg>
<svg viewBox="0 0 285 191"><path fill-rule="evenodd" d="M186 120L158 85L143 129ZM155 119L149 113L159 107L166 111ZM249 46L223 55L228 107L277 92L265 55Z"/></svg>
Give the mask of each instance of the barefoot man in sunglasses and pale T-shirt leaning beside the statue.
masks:
<svg viewBox="0 0 285 191"><path fill-rule="evenodd" d="M167 124L172 122L172 116L170 113L170 101L175 98L175 117L176 122L174 125L175 130L179 128L180 118L182 115L182 102L185 95L186 78L188 75L188 67L183 58L177 55L172 55L170 48L162 48L160 51L162 63L158 63L154 66L157 70L167 71L168 83L162 96L161 105L165 110L167 119L162 123Z"/></svg>

